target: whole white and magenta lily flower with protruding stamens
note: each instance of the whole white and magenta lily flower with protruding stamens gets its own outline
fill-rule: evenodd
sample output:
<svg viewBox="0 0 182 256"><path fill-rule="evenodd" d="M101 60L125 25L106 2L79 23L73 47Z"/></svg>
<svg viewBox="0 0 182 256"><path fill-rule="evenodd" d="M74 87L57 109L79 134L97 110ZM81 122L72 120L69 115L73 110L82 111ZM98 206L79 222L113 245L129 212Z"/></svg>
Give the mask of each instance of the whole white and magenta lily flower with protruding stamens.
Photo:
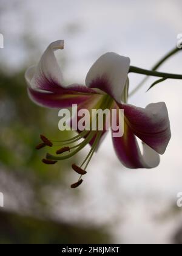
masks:
<svg viewBox="0 0 182 256"><path fill-rule="evenodd" d="M66 85L54 52L64 48L64 41L51 43L45 50L38 65L27 69L25 79L29 96L33 102L49 108L69 108L77 104L78 109L93 108L116 109L119 119L120 109L124 110L124 135L112 136L116 155L127 168L155 168L160 163L159 154L164 154L170 140L170 123L164 102L152 103L146 108L127 104L129 87L128 73L130 59L114 52L101 55L92 65L86 76L86 85ZM56 155L47 154L44 163L54 164L58 160L72 157L87 144L91 145L89 154L80 166L72 168L81 176L72 188L78 187L86 174L86 168L93 153L98 149L103 131L78 131L70 140L61 141L63 148L57 149ZM114 131L112 130L112 135ZM143 142L141 152L136 137ZM52 146L55 141L46 144L45 137L38 148ZM81 140L84 139L84 140ZM79 142L81 141L81 142ZM51 143L50 143L51 142ZM76 146L69 146L78 142ZM40 146L41 145L41 146ZM61 156L59 155L61 154ZM62 155L63 154L63 155Z"/></svg>

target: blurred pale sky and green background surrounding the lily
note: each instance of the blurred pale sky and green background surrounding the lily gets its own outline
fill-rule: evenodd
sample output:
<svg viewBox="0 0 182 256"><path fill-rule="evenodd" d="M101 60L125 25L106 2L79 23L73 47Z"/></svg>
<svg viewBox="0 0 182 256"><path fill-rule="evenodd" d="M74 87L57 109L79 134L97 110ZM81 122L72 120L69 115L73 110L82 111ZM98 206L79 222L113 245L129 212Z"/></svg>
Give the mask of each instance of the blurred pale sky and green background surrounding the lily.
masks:
<svg viewBox="0 0 182 256"><path fill-rule="evenodd" d="M130 103L145 107L165 101L172 139L160 166L124 168L108 134L89 165L83 185L70 189L70 165L41 163L35 151L39 133L58 131L58 110L34 105L24 71L37 63L54 40L64 39L59 63L68 83L84 83L93 62L107 51L129 56L131 64L151 68L174 48L182 33L180 0L1 0L0 33L0 243L182 243L180 80L167 80L146 93L153 78ZM182 53L160 70L181 73ZM143 77L130 75L130 90Z"/></svg>

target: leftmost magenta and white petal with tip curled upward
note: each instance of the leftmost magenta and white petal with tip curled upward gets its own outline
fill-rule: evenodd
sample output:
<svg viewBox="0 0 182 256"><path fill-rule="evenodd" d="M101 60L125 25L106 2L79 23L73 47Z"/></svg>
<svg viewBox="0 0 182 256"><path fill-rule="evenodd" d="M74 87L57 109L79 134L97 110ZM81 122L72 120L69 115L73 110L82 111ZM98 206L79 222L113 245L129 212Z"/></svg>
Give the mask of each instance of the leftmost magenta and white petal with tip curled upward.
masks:
<svg viewBox="0 0 182 256"><path fill-rule="evenodd" d="M72 107L98 94L85 85L71 84L64 86L61 69L55 57L55 51L63 49L62 40L51 43L45 50L37 66L27 69L25 79L30 98L45 107Z"/></svg>

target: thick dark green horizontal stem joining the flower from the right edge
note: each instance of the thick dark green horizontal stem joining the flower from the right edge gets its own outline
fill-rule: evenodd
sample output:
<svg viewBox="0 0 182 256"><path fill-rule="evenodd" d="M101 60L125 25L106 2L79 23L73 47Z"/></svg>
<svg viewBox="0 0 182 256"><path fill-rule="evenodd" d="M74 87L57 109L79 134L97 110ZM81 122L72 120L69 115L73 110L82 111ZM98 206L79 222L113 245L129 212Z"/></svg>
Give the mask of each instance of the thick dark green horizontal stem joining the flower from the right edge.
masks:
<svg viewBox="0 0 182 256"><path fill-rule="evenodd" d="M180 74L170 74L170 73L163 73L157 72L152 70L147 70L143 68L137 68L136 66L130 66L129 73L137 73L137 74L145 74L146 76L157 76L163 78L171 78L171 79L182 79L182 75Z"/></svg>

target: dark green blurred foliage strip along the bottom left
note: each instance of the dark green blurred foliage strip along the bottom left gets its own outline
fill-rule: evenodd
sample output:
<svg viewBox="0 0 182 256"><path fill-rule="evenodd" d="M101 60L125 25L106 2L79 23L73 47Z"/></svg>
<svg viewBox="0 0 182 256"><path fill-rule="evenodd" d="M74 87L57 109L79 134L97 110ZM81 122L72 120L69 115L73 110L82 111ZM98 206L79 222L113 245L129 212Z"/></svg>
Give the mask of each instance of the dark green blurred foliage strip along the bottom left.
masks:
<svg viewBox="0 0 182 256"><path fill-rule="evenodd" d="M107 243L108 236L96 228L45 221L0 212L0 243L79 244Z"/></svg>

